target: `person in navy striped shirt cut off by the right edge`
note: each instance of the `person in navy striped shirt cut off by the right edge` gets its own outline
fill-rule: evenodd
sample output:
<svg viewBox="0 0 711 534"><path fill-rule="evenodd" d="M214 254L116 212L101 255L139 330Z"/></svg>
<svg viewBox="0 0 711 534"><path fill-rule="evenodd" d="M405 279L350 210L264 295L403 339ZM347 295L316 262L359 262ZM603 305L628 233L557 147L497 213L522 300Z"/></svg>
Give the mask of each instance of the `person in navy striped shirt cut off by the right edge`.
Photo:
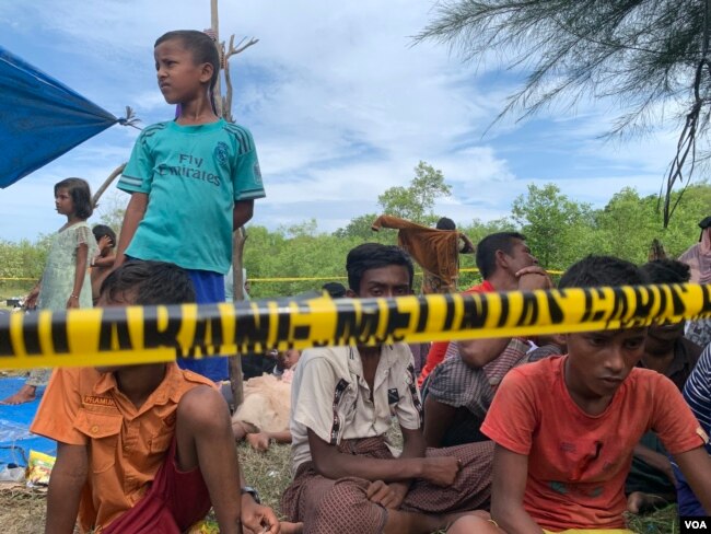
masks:
<svg viewBox="0 0 711 534"><path fill-rule="evenodd" d="M711 344L707 345L701 352L689 380L686 381L684 399L699 420L703 431L707 434L711 432ZM711 455L711 443L707 443L706 451ZM673 463L673 466L679 515L711 515L709 503L701 504L701 499L693 494L686 477L679 471L679 466L676 463Z"/></svg>

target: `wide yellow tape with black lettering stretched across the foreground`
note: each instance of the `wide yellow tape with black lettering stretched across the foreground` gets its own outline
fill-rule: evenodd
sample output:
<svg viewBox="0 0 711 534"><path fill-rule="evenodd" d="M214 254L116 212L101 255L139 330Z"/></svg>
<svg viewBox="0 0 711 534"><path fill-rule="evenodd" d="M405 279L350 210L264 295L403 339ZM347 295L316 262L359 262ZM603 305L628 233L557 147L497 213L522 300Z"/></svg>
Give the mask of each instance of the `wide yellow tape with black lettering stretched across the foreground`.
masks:
<svg viewBox="0 0 711 534"><path fill-rule="evenodd" d="M114 365L267 348L531 336L711 316L711 285L252 301L0 315L0 368Z"/></svg>

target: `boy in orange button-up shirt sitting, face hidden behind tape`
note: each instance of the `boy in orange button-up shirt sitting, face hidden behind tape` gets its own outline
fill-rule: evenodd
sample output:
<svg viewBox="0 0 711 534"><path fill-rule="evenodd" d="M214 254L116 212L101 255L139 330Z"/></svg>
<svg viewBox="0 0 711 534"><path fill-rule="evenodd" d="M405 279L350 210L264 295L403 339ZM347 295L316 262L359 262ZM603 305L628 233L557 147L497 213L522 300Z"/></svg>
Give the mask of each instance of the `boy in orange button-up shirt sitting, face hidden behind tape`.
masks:
<svg viewBox="0 0 711 534"><path fill-rule="evenodd" d="M104 280L98 303L194 301L184 269L135 262ZM279 532L242 481L224 399L175 362L57 369L31 430L57 440L47 532L71 533L79 516L81 532L177 534L211 506L220 532Z"/></svg>

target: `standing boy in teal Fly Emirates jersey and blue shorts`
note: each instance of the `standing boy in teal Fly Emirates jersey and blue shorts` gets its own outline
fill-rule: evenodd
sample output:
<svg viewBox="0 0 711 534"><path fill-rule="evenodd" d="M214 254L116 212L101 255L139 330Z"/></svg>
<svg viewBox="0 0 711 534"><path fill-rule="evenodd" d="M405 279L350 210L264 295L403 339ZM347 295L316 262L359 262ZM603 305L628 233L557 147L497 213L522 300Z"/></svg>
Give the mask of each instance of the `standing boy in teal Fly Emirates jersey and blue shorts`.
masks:
<svg viewBox="0 0 711 534"><path fill-rule="evenodd" d="M198 303L224 302L232 231L265 196L252 134L214 113L211 90L220 57L202 32L168 32L153 50L158 84L175 120L145 128L118 188L131 195L116 266L126 258L171 262L188 269ZM214 381L229 378L226 358L179 365Z"/></svg>

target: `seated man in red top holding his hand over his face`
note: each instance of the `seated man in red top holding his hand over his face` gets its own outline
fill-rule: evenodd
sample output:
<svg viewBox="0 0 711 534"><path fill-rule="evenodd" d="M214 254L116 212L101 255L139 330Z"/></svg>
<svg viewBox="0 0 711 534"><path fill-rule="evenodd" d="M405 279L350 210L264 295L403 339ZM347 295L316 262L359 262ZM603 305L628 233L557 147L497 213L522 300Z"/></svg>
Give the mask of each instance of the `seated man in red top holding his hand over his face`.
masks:
<svg viewBox="0 0 711 534"><path fill-rule="evenodd" d="M546 289L552 287L550 277L538 267L538 260L526 245L525 235L518 232L500 232L487 235L477 245L477 267L483 281L465 293ZM531 276L528 276L531 275ZM459 343L459 355L470 367L483 367L499 356L511 338L479 339ZM433 343L420 372L418 384L439 365L447 352L448 341Z"/></svg>

